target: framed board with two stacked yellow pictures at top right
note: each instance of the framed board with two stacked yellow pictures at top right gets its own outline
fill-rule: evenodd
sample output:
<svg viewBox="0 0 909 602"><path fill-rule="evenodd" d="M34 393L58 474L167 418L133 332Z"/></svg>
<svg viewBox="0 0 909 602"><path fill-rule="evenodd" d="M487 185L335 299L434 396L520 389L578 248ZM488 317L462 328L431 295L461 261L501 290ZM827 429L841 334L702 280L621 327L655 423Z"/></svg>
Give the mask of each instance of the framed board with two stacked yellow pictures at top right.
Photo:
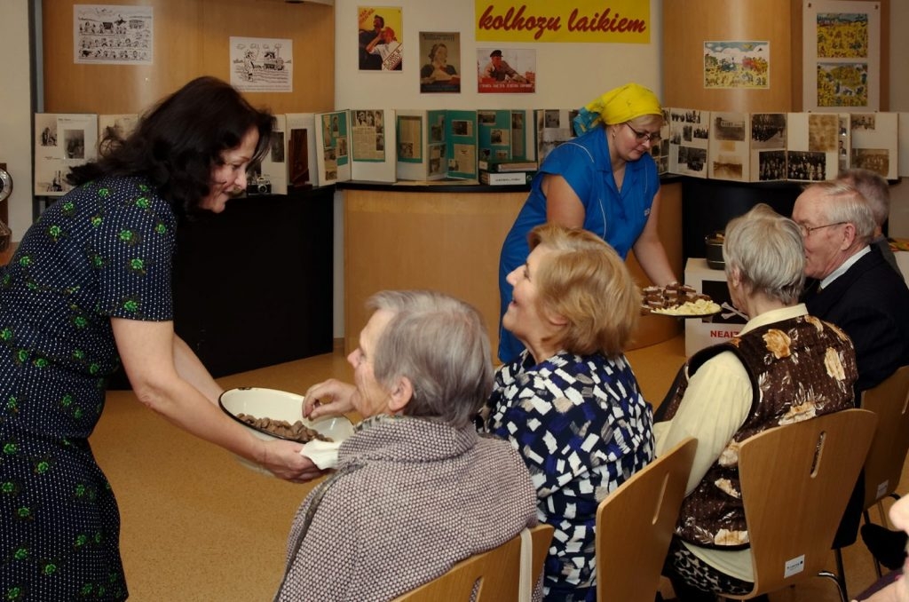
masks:
<svg viewBox="0 0 909 602"><path fill-rule="evenodd" d="M880 3L822 0L803 10L804 110L878 110Z"/></svg>

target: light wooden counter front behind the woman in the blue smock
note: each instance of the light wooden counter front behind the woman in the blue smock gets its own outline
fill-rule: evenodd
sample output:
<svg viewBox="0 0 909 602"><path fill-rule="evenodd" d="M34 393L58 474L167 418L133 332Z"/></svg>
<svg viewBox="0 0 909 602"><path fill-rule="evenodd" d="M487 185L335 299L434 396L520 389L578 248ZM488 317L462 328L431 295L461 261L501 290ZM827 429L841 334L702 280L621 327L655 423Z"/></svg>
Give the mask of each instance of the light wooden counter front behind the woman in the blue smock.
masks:
<svg viewBox="0 0 909 602"><path fill-rule="evenodd" d="M682 268L681 184L663 185L660 236L675 274ZM369 318L366 299L384 289L428 288L476 306L498 348L498 264L502 241L524 205L527 188L492 186L359 186L339 183L345 223L345 353ZM503 186L503 188L505 188ZM649 280L629 255L635 280ZM642 319L633 347L681 332L678 320ZM495 356L495 353L493 353Z"/></svg>

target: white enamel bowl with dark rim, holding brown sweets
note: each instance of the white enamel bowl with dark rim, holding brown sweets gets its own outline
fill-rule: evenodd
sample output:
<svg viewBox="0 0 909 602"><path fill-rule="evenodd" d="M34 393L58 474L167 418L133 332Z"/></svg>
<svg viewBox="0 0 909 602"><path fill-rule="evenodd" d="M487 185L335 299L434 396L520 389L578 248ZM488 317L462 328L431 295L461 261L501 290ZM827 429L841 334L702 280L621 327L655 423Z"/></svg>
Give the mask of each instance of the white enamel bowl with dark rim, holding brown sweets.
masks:
<svg viewBox="0 0 909 602"><path fill-rule="evenodd" d="M272 418L273 420L286 420L294 424L297 420L303 422L307 428L312 428L320 435L326 436L340 443L354 434L354 425L345 416L328 416L318 420L309 420L303 417L303 396L277 389L268 389L257 386L241 386L228 389L218 397L218 405L227 416L231 416L241 425L245 426L255 436L268 440L286 439L283 436L273 435L265 429L252 426L238 414L255 416L256 418ZM253 468L257 472L271 475L271 472L259 467L245 458L238 457L245 467Z"/></svg>

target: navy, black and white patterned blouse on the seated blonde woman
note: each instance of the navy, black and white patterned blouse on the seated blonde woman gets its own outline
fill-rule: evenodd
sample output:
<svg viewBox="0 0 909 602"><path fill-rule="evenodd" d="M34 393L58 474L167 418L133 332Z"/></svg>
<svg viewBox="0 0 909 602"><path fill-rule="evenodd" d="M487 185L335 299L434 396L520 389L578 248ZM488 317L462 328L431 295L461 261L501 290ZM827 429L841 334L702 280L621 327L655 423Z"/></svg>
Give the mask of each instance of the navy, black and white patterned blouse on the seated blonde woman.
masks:
<svg viewBox="0 0 909 602"><path fill-rule="evenodd" d="M486 429L524 457L537 516L555 528L546 600L595 600L599 503L654 457L653 414L624 356L524 351L495 375Z"/></svg>

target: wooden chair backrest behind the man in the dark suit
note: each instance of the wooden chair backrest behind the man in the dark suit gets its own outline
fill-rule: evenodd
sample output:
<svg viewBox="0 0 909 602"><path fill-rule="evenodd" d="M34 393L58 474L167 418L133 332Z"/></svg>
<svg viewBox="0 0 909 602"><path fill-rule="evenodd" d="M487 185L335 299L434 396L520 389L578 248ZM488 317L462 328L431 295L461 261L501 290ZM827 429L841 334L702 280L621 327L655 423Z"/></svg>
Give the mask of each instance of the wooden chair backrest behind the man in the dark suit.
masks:
<svg viewBox="0 0 909 602"><path fill-rule="evenodd" d="M877 415L877 428L864 460L864 508L894 493L909 452L909 366L862 394L862 409Z"/></svg>

